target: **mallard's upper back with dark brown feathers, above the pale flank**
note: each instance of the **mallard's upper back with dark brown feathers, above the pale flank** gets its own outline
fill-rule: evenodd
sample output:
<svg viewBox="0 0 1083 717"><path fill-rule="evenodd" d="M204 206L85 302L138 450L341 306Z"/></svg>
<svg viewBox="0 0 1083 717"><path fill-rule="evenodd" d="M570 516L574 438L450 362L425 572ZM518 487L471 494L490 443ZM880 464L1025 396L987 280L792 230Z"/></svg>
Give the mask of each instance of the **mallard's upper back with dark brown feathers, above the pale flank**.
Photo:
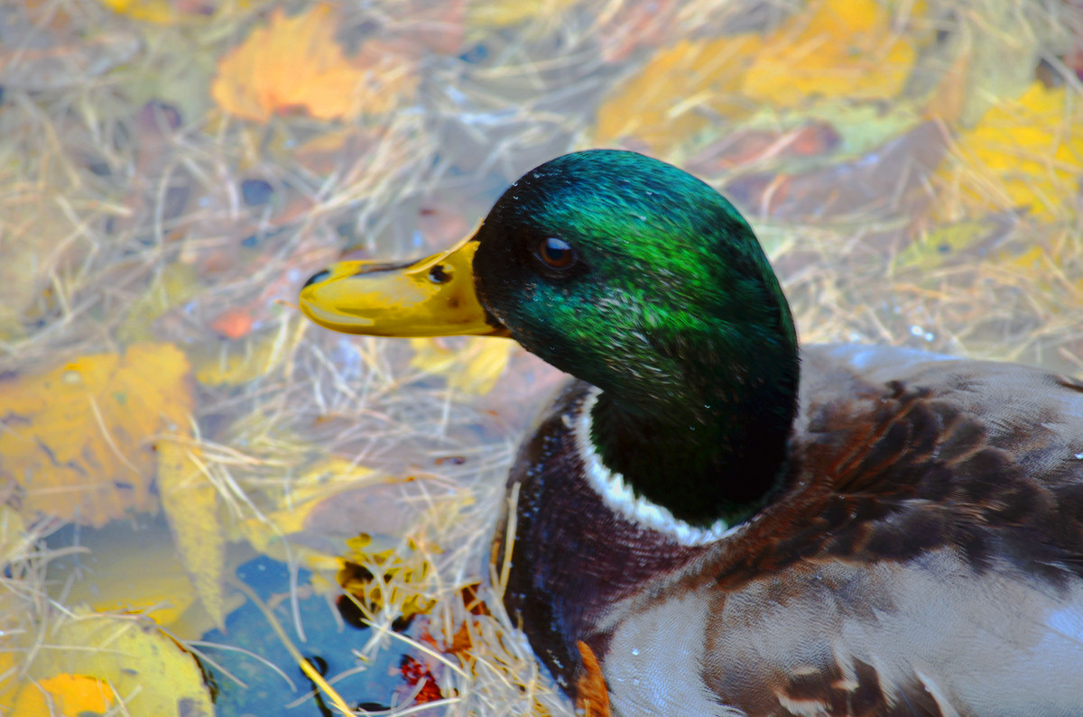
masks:
<svg viewBox="0 0 1083 717"><path fill-rule="evenodd" d="M751 526L735 579L803 558L940 547L978 569L999 559L1051 581L1083 575L1083 383L854 346L806 349L801 381L790 483Z"/></svg>

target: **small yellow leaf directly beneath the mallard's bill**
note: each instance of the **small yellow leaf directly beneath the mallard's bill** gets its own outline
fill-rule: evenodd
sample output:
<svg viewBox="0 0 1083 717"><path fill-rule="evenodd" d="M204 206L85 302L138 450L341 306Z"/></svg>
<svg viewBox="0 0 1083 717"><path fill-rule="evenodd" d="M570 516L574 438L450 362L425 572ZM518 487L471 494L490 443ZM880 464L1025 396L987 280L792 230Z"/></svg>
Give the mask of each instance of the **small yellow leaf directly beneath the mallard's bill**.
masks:
<svg viewBox="0 0 1083 717"><path fill-rule="evenodd" d="M484 395L493 390L508 366L513 343L493 339L466 339L461 349L449 349L442 339L410 339L410 366L447 376L452 389Z"/></svg>

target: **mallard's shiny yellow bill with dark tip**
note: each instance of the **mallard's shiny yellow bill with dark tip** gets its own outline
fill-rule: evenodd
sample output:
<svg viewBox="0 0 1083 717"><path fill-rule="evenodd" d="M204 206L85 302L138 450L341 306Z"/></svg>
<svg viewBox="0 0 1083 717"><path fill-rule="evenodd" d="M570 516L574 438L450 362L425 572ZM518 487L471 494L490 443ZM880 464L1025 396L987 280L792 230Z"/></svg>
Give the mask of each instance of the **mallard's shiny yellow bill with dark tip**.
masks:
<svg viewBox="0 0 1083 717"><path fill-rule="evenodd" d="M369 336L508 336L474 292L478 242L403 264L342 261L301 289L301 311L329 329Z"/></svg>

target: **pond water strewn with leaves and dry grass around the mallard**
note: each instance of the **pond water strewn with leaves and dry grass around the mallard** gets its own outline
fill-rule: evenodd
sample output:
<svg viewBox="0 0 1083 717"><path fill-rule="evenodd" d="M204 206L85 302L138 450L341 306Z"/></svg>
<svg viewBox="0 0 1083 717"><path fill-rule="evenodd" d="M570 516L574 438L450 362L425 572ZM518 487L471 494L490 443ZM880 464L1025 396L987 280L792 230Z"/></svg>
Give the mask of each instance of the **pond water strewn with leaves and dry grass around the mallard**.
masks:
<svg viewBox="0 0 1083 717"><path fill-rule="evenodd" d="M731 198L804 341L1080 374L1081 77L1039 0L0 8L0 706L572 714L486 566L562 375L304 281L619 147Z"/></svg>

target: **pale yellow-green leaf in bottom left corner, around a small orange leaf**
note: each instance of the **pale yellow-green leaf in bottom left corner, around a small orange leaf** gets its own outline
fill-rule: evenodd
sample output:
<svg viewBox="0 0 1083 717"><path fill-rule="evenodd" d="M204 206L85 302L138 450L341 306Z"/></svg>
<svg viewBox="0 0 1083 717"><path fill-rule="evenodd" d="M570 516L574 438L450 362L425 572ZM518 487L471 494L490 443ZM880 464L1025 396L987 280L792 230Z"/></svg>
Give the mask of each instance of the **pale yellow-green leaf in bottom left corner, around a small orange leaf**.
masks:
<svg viewBox="0 0 1083 717"><path fill-rule="evenodd" d="M214 707L190 653L153 621L76 612L47 635L30 677L86 675L108 683L129 715L211 717ZM77 713L76 713L77 714Z"/></svg>

